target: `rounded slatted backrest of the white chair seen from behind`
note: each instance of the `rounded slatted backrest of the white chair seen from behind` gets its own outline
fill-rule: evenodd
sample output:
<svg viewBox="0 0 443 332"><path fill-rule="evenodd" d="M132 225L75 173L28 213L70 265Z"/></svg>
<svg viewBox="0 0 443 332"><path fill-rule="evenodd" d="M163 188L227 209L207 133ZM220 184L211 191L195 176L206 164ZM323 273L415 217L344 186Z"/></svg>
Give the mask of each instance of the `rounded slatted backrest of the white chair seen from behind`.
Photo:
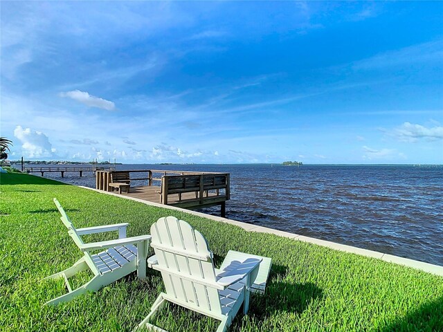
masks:
<svg viewBox="0 0 443 332"><path fill-rule="evenodd" d="M189 306L220 314L217 288L201 284L201 279L216 282L213 254L204 236L173 216L154 223L151 235L159 266L174 272L161 271L166 293Z"/></svg>

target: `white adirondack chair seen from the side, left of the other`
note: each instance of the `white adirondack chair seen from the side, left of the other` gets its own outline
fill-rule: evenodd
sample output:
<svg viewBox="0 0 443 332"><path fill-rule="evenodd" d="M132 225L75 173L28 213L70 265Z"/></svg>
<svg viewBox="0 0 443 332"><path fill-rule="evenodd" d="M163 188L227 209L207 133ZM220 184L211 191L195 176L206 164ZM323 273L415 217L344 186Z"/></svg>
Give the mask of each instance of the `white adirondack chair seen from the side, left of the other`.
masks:
<svg viewBox="0 0 443 332"><path fill-rule="evenodd" d="M83 257L75 262L71 268L62 270L44 279L64 278L68 292L60 297L51 299L46 304L55 305L60 302L67 302L82 295L87 291L98 291L100 288L125 277L129 273L137 270L138 278L146 277L146 257L150 235L142 235L139 237L126 237L126 228L129 223L117 223L115 225L103 225L89 228L75 228L69 217L64 212L62 205L54 199L57 209L62 214L62 222L68 228L68 234L72 237L75 244L83 252ZM101 232L118 231L118 239L111 241L101 241L93 243L84 243L80 235L93 234ZM103 250L93 254L92 252ZM72 289L68 278L82 270L91 269L94 277L79 288Z"/></svg>

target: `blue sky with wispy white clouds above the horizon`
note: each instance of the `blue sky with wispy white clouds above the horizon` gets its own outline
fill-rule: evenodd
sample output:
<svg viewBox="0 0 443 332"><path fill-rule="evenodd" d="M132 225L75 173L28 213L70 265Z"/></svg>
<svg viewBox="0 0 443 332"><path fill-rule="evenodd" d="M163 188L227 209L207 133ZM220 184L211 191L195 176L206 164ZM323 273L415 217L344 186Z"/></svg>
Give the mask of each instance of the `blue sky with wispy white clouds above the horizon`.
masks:
<svg viewBox="0 0 443 332"><path fill-rule="evenodd" d="M443 2L1 2L10 159L443 163Z"/></svg>

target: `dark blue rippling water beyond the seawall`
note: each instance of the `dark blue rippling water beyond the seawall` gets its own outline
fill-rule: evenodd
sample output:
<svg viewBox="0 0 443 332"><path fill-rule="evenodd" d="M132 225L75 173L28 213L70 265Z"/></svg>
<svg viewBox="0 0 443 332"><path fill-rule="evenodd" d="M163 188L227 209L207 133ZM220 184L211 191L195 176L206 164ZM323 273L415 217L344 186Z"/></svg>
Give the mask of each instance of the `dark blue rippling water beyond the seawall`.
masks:
<svg viewBox="0 0 443 332"><path fill-rule="evenodd" d="M228 172L226 217L443 266L443 167L117 165ZM87 174L45 174L95 186ZM145 183L134 183L145 185ZM204 212L218 214L219 210Z"/></svg>

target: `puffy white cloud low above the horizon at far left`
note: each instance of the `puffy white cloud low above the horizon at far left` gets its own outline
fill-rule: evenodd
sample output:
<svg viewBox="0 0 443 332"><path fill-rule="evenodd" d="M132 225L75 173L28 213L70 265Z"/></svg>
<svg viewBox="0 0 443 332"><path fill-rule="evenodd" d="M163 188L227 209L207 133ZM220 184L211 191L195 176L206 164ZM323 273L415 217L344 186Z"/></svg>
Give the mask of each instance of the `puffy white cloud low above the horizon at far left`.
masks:
<svg viewBox="0 0 443 332"><path fill-rule="evenodd" d="M14 130L14 136L22 143L21 149L26 158L47 158L53 157L53 149L48 136L41 131L31 131L30 128L23 129L17 126Z"/></svg>

